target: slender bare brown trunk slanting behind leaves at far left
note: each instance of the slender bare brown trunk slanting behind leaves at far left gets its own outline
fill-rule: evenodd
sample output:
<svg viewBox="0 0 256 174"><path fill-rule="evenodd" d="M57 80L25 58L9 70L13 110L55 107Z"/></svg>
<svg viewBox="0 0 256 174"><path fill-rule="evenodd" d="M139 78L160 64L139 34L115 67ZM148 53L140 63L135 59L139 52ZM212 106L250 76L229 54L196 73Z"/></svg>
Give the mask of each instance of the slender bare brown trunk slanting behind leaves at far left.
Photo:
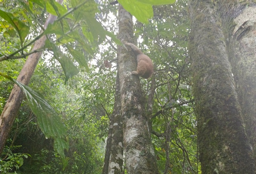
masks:
<svg viewBox="0 0 256 174"><path fill-rule="evenodd" d="M63 0L57 0L57 2L62 4ZM50 14L44 23L44 28L46 29L48 24L53 23L56 18L56 16ZM35 42L31 51L43 48L45 41L46 36L42 36ZM41 53L42 52L36 52L28 56L28 59L17 78L19 82L28 85L41 56ZM15 84L0 116L0 155L4 149L6 139L8 138L8 134L12 128L12 123L19 111L23 97L24 94L22 90Z"/></svg>

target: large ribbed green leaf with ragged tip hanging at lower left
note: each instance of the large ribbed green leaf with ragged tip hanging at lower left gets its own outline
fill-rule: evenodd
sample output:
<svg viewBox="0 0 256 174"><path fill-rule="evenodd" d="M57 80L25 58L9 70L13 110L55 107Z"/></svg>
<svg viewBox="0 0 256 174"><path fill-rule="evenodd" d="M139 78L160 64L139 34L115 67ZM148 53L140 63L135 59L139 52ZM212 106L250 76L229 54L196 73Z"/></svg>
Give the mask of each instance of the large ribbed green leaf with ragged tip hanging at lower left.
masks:
<svg viewBox="0 0 256 174"><path fill-rule="evenodd" d="M60 121L59 115L41 94L8 75L4 75L2 73L0 73L0 75L8 78L22 89L31 110L36 115L40 129L46 138L54 138L54 149L60 154L63 167L66 167L67 160L65 159L64 149L68 149L69 144L68 140L64 139L66 130Z"/></svg>

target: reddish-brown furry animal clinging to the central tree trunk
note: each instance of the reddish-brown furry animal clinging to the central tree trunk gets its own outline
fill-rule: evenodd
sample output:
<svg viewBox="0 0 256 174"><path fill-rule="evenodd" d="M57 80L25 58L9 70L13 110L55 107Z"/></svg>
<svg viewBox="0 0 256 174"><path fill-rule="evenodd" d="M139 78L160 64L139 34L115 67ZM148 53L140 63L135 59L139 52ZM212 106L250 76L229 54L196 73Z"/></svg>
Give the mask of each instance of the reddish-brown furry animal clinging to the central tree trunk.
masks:
<svg viewBox="0 0 256 174"><path fill-rule="evenodd" d="M134 54L137 56L137 70L132 71L132 74L148 79L153 74L154 70L152 60L147 55L143 54L134 44L127 42L124 44L130 46Z"/></svg>

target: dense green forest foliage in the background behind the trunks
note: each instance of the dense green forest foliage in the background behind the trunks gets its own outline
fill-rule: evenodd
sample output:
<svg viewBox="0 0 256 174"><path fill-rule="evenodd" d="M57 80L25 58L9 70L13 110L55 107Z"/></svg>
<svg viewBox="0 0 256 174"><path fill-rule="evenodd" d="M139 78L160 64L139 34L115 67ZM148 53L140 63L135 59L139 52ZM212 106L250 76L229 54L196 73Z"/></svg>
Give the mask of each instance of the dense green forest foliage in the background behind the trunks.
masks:
<svg viewBox="0 0 256 174"><path fill-rule="evenodd" d="M39 35L47 12L53 12L50 8L52 1L45 2L49 4L32 0L1 2L1 7L30 26L30 34L23 45ZM82 19L84 16L79 16L79 9L68 13L74 8L72 3L77 2L65 1L65 8L59 11L61 15L67 14L64 23L56 23L47 31L59 49L50 42L46 44L47 49L29 84L61 117L69 140L69 149L65 152L68 166L62 171L61 158L53 149L53 139L45 139L37 117L24 99L0 157L0 165L9 168L0 167L1 173L101 173L108 115L115 102L118 41L113 34L117 33L117 6L109 1L101 1L98 5L90 1L92 6L81 5L81 9L92 8L97 12L97 23L94 16L93 19L89 14L86 16L93 20L90 23ZM155 90L154 98L147 98L152 104L152 108L148 107L148 115L153 117L152 140L161 173L200 173L187 52L186 5L186 1L178 1L172 5L153 6L154 17L148 24L134 23L139 48L155 65L155 74L141 83L147 96L150 89ZM0 24L0 56L10 55L21 47L21 40L8 22L1 19ZM106 39L105 35L108 35ZM28 52L29 48L31 46L24 51ZM61 51L65 54L62 60ZM104 65L104 61L112 67ZM24 62L24 59L2 61L0 72L16 78ZM1 113L13 84L1 76L0 82Z"/></svg>

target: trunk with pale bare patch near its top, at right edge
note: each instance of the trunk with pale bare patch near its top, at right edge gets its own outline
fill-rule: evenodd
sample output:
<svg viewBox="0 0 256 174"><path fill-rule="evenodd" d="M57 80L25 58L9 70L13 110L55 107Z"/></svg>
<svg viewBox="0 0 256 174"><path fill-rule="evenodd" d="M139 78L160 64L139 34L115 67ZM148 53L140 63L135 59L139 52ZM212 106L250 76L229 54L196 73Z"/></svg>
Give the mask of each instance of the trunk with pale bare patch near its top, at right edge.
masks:
<svg viewBox="0 0 256 174"><path fill-rule="evenodd" d="M246 1L220 2L220 16L225 40L228 43L228 57L246 133L256 159L256 4Z"/></svg>

